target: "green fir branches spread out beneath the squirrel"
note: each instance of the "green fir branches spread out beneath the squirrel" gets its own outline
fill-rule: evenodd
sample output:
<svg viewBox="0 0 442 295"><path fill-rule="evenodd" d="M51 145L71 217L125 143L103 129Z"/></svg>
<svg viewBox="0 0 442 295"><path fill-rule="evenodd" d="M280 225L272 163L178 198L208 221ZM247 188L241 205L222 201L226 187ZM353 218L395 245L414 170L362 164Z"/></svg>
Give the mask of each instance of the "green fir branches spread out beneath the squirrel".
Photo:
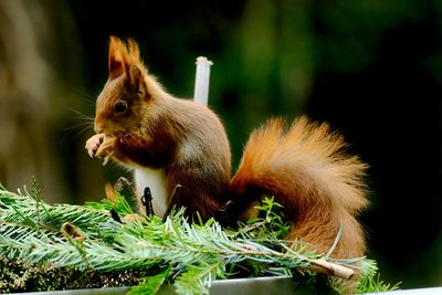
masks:
<svg viewBox="0 0 442 295"><path fill-rule="evenodd" d="M133 210L119 194L113 201L86 206L50 206L35 196L40 192L34 185L32 193L25 190L12 193L0 187L0 257L10 265L10 280L13 268L24 264L36 267L39 277L53 275L48 270L56 270L64 281L91 282L92 277L106 274L110 277L127 274L118 282L138 284L130 294L155 294L167 285L178 294L207 294L214 280L291 275L294 270L308 268L313 260L320 257L303 247L291 249L281 239L290 225L275 212L281 206L273 198L257 207L260 218L231 231L213 219L191 223L183 209L165 222L154 215L144 222L136 219L122 224L112 218L109 210L122 218ZM359 261L335 263L354 265ZM128 280L130 273L139 280ZM4 275L3 278L7 280ZM72 286L60 283L62 278L53 281L54 284L44 281L48 289ZM372 278L361 282L361 288L373 284L388 287ZM14 289L14 283L8 281L0 286L2 291ZM18 289L33 288L24 284Z"/></svg>

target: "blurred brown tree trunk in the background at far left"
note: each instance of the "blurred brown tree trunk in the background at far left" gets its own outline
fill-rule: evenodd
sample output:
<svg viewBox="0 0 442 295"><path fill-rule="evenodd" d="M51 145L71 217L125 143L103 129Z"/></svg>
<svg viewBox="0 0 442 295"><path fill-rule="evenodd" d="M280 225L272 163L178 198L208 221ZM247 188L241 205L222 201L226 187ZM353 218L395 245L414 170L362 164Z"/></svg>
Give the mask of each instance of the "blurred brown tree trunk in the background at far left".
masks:
<svg viewBox="0 0 442 295"><path fill-rule="evenodd" d="M35 176L46 200L72 196L66 156L75 155L62 154L60 128L78 105L65 86L82 84L76 44L63 1L0 1L0 182L9 189Z"/></svg>

